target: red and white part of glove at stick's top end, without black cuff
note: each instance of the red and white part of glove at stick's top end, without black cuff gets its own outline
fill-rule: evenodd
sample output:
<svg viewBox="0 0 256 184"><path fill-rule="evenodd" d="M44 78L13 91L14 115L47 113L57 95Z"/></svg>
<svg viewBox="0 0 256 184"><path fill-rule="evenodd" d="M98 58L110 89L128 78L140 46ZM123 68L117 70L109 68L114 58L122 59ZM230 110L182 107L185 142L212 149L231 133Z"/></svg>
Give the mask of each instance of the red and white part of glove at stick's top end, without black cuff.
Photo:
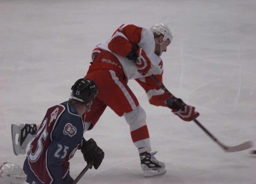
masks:
<svg viewBox="0 0 256 184"><path fill-rule="evenodd" d="M149 58L147 57L145 51L139 47L136 52L138 58L135 61L136 66L139 68L138 72L142 72L142 75L145 76L149 69L151 68L151 63Z"/></svg>

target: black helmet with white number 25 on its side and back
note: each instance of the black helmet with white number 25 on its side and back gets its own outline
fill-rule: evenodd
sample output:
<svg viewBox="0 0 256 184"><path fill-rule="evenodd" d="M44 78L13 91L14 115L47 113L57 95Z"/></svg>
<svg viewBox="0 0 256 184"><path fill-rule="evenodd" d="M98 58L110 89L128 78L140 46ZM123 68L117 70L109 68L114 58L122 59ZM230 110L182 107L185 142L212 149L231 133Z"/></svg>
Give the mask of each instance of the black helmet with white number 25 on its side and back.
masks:
<svg viewBox="0 0 256 184"><path fill-rule="evenodd" d="M92 80L81 78L78 79L71 87L72 99L79 102L88 103L91 99L95 99L98 94L98 87Z"/></svg>

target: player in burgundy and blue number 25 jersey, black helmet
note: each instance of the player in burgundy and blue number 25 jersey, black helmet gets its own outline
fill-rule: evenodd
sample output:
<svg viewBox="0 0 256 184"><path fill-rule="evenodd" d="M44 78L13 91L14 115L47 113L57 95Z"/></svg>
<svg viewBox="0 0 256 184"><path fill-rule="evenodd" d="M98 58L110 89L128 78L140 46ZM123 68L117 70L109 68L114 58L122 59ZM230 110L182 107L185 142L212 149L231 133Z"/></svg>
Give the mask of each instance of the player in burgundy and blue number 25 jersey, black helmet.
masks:
<svg viewBox="0 0 256 184"><path fill-rule="evenodd" d="M83 131L88 128L84 122L85 113L90 111L97 93L93 81L79 79L72 86L69 101L47 110L24 162L28 183L72 183L68 161L77 149L81 149L87 163L94 161L94 168L99 167L104 152L93 139L83 138ZM27 135L30 129L33 131L31 125L22 126L20 136ZM13 126L12 130L14 133Z"/></svg>

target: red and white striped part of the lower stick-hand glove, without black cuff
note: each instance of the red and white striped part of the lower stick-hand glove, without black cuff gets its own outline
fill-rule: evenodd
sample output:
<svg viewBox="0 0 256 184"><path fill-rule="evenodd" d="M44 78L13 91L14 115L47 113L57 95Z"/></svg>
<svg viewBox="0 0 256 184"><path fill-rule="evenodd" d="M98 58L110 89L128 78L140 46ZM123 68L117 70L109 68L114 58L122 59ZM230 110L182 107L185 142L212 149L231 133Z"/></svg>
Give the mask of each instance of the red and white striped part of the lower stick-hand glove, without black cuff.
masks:
<svg viewBox="0 0 256 184"><path fill-rule="evenodd" d="M192 107L190 105L185 105L183 107L183 110L180 108L179 110L172 110L173 114L179 116L184 121L190 122L197 118L200 114L199 112L195 111L195 107Z"/></svg>

